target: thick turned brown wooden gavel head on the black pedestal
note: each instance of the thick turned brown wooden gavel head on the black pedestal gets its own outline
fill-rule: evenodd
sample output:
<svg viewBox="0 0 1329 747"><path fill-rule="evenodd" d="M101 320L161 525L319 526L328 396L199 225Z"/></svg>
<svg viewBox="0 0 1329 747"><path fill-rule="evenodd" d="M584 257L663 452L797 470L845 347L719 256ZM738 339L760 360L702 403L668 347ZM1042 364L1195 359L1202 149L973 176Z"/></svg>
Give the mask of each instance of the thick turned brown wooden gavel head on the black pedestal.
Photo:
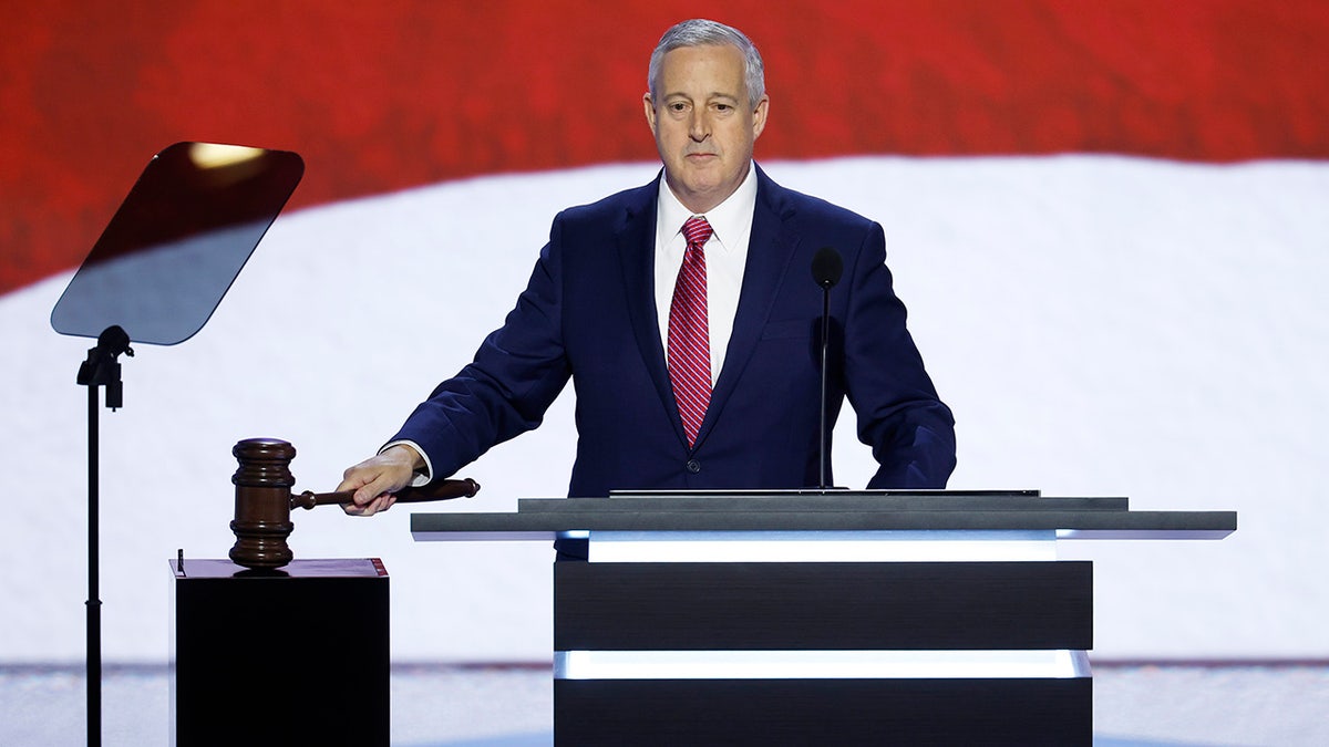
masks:
<svg viewBox="0 0 1329 747"><path fill-rule="evenodd" d="M278 439L246 439L231 449L239 468L235 484L235 545L230 557L251 569L282 568L294 557L286 538L291 524L291 460L295 447Z"/></svg>

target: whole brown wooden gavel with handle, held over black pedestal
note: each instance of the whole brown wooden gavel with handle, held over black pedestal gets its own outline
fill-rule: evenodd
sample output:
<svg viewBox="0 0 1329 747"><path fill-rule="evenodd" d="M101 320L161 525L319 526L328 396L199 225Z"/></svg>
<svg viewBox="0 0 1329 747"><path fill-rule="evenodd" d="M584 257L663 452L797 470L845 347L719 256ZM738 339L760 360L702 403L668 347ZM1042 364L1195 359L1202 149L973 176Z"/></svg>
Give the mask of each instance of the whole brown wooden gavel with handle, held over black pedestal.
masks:
<svg viewBox="0 0 1329 747"><path fill-rule="evenodd" d="M235 520L231 532L235 545L230 557L237 565L250 569L274 569L291 562L294 554L286 538L295 525L291 509L311 509L316 505L348 504L354 492L291 493L295 477L291 460L295 447L278 439L246 439L231 449L239 468L235 484ZM470 497L480 492L474 480L435 480L420 488L404 488L396 493L399 502L444 501Z"/></svg>

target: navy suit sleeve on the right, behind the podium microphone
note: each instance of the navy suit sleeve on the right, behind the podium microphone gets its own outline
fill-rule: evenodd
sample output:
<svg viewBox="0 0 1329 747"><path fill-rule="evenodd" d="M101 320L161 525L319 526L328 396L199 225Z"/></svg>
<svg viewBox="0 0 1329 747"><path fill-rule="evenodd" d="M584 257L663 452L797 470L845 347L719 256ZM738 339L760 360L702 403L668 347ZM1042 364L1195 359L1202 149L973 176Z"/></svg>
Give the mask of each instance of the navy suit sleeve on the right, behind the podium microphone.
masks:
<svg viewBox="0 0 1329 747"><path fill-rule="evenodd" d="M868 488L945 488L956 468L956 421L905 327L880 225L870 225L852 262L844 384L859 415L859 439L880 465Z"/></svg>

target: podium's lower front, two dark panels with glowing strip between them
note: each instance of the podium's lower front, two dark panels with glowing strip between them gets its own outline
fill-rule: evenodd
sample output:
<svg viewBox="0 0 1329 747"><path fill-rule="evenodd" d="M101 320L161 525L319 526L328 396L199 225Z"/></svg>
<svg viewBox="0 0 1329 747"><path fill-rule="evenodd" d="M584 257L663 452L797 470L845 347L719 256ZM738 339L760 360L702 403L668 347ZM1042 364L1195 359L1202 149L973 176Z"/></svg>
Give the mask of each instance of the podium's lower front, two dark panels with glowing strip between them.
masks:
<svg viewBox="0 0 1329 747"><path fill-rule="evenodd" d="M556 562L556 743L1088 744L1092 584L1087 561Z"/></svg>

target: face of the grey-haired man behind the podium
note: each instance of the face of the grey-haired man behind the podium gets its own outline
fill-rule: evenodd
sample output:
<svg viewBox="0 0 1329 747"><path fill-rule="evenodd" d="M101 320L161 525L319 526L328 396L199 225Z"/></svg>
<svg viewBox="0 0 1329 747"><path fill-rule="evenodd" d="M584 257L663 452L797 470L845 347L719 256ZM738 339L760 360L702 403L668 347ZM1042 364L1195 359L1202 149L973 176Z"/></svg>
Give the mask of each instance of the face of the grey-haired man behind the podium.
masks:
<svg viewBox="0 0 1329 747"><path fill-rule="evenodd" d="M680 47L664 54L646 121L664 181L688 210L706 213L747 177L768 98L750 102L743 53L730 45Z"/></svg>

